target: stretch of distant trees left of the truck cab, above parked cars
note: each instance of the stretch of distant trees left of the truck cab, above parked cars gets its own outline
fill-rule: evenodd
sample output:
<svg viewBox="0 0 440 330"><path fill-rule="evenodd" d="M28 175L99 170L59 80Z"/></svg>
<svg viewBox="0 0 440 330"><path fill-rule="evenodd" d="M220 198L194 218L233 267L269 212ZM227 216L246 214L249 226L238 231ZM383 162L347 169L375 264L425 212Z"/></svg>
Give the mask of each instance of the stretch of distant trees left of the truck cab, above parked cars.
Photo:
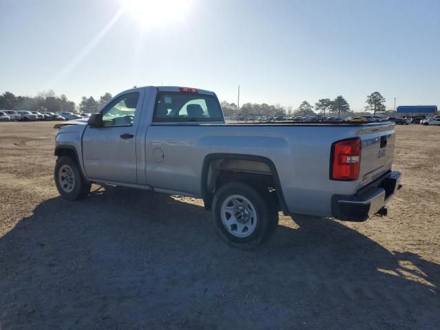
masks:
<svg viewBox="0 0 440 330"><path fill-rule="evenodd" d="M54 91L44 91L36 96L15 96L9 91L0 95L0 110L27 110L40 112L75 112L95 113L102 105L111 99L110 93L105 93L95 100L93 96L83 96L81 102L77 104L68 100L67 96L61 94L56 96Z"/></svg>

